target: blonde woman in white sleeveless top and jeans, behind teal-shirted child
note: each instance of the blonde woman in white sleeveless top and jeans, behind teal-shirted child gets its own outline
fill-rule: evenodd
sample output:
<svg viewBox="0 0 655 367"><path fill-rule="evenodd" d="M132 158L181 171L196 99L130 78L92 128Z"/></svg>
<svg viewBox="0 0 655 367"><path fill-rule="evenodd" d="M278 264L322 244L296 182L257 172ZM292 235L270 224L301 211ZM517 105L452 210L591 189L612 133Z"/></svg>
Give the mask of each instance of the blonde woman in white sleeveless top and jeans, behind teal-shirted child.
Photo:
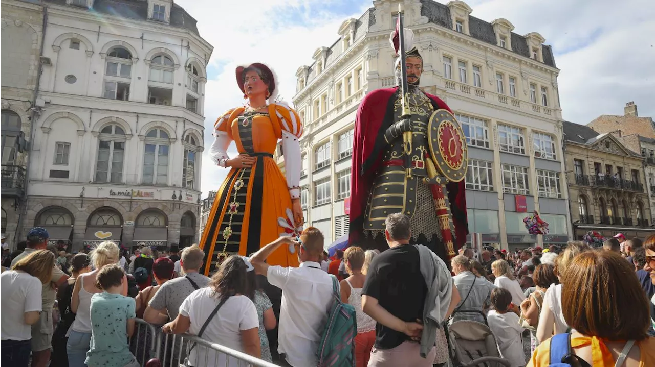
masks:
<svg viewBox="0 0 655 367"><path fill-rule="evenodd" d="M95 270L80 274L75 281L73 296L71 296L71 311L75 313L75 321L68 329L68 342L66 343L69 367L86 366L84 360L86 360L86 352L88 352L91 342L91 296L102 293L102 289L96 287L96 278L104 266L117 264L120 254L121 251L115 243L102 242L89 253L91 264ZM127 295L127 277L123 281L122 295Z"/></svg>

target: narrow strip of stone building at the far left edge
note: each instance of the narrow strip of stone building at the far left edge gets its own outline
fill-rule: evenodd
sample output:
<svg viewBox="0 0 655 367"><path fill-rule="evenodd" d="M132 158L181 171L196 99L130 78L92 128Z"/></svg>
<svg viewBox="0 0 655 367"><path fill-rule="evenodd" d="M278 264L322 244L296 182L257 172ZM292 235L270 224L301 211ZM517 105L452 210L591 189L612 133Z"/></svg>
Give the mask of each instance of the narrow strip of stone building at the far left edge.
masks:
<svg viewBox="0 0 655 367"><path fill-rule="evenodd" d="M22 240L31 120L41 65L43 11L34 2L0 0L0 234Z"/></svg>

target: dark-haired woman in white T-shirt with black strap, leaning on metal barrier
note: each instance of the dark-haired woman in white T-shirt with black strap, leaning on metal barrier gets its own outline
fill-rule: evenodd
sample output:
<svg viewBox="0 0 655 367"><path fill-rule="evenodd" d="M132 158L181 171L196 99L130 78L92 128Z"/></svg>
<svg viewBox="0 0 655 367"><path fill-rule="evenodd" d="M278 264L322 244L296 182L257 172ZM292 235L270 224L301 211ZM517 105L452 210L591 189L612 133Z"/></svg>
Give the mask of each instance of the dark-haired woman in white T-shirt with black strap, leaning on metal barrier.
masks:
<svg viewBox="0 0 655 367"><path fill-rule="evenodd" d="M261 358L259 317L255 304L246 296L249 266L240 256L228 257L212 276L208 287L187 296L179 306L178 317L164 325L162 331L166 334L189 332L208 342ZM205 323L207 326L200 335ZM202 345L191 350L188 362L189 366L230 367L239 363L231 359L228 365L225 354L217 355Z"/></svg>

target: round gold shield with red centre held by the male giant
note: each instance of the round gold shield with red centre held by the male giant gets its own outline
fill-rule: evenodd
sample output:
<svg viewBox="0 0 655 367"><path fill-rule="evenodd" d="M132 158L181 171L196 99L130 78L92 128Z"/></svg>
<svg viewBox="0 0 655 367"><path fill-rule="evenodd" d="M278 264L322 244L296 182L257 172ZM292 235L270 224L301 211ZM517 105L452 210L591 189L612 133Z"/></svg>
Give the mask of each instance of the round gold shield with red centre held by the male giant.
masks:
<svg viewBox="0 0 655 367"><path fill-rule="evenodd" d="M464 131L448 110L436 110L428 122L430 154L436 168L447 180L460 182L466 177L468 150Z"/></svg>

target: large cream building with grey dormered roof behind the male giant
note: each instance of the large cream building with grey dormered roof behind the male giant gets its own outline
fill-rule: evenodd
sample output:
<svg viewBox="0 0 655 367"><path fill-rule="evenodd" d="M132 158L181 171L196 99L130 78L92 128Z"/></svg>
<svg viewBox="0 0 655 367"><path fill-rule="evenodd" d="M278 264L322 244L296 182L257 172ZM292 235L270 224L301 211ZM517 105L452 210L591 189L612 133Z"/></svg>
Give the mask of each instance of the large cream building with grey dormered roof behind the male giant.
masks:
<svg viewBox="0 0 655 367"><path fill-rule="evenodd" d="M538 33L518 35L508 20L485 22L462 1L403 1L405 26L423 58L421 88L441 97L468 142L466 178L470 232L496 247L566 242L571 233L563 182L561 108L550 46ZM348 232L350 159L359 102L395 86L388 37L398 1L374 1L339 39L314 52L297 71L295 108L301 138L302 202L326 242ZM531 236L523 218L538 210L549 236Z"/></svg>

